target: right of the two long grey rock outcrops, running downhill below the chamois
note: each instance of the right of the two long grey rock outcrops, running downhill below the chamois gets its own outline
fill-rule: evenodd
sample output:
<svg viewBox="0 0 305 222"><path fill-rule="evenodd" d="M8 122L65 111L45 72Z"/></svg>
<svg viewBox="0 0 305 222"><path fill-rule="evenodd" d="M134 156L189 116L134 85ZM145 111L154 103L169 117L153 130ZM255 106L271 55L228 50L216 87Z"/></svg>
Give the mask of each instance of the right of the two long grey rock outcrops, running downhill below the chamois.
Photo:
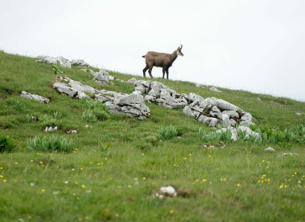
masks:
<svg viewBox="0 0 305 222"><path fill-rule="evenodd" d="M204 99L195 93L179 94L158 81L136 81L133 78L129 82L135 85L135 90L147 93L144 97L145 101L157 102L160 106L169 109L183 108L186 116L210 127L216 127L217 124L227 127L235 127L236 123L243 126L254 124L250 113L222 99L215 97Z"/></svg>

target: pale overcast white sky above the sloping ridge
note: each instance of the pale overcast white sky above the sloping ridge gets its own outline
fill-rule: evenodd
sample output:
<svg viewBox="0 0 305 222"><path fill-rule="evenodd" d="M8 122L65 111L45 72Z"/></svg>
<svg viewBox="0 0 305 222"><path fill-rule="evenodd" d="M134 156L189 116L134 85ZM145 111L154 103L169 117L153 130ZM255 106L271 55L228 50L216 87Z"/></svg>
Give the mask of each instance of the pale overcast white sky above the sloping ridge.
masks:
<svg viewBox="0 0 305 222"><path fill-rule="evenodd" d="M8 53L142 76L142 55L182 44L172 80L305 101L304 0L12 0L1 8L0 49ZM162 77L162 68L152 75Z"/></svg>

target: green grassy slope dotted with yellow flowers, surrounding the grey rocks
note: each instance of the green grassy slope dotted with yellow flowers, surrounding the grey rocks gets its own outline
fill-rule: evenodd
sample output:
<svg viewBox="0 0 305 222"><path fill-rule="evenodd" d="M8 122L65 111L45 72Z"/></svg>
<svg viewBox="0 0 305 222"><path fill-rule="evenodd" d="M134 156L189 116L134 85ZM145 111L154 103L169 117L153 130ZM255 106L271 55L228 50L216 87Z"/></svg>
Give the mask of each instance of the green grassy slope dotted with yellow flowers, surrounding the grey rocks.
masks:
<svg viewBox="0 0 305 222"><path fill-rule="evenodd" d="M82 118L85 99L56 92L51 66L35 60L0 52L0 134L17 139L13 152L0 153L2 221L305 220L304 144L239 141L225 148L204 147L197 136L199 127L207 132L212 129L184 116L182 109L152 103L146 104L151 110L146 120L110 114L110 120L89 123ZM72 66L63 76L96 89L134 91L132 84L115 80L97 84L80 69ZM109 74L126 81L133 77ZM295 114L305 113L303 102L225 88L217 93L191 82L155 80L178 92L231 102L251 113L257 125L281 129L305 125L305 117ZM49 98L50 103L20 98L23 90ZM16 101L23 104L20 109ZM45 132L43 124L26 118L28 114L54 118L56 111L62 113L58 131ZM159 141L158 128L170 124L177 127L181 138ZM77 133L67 134L71 129ZM72 139L73 151L31 152L26 148L29 139L48 138L52 133ZM108 143L110 149L103 150ZM265 152L268 146L276 151ZM277 157L284 152L299 156ZM153 198L165 185L174 186L178 196Z"/></svg>

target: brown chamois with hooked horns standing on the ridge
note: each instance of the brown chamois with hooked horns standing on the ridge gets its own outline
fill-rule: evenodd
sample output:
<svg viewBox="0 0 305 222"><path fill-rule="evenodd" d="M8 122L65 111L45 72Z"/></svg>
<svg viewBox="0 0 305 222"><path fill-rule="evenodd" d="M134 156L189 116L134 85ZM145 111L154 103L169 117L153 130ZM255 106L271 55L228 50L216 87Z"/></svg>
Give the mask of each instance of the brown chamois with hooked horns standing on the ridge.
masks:
<svg viewBox="0 0 305 222"><path fill-rule="evenodd" d="M181 47L179 46L172 54L168 53L159 53L159 52L147 52L146 55L143 55L142 57L145 58L146 66L143 69L143 77L145 77L145 72L148 70L148 73L151 78L152 77L152 67L162 67L163 72L163 79L166 72L167 79L168 79L168 68L173 64L175 59L178 57L178 55L183 56L183 53L181 52Z"/></svg>

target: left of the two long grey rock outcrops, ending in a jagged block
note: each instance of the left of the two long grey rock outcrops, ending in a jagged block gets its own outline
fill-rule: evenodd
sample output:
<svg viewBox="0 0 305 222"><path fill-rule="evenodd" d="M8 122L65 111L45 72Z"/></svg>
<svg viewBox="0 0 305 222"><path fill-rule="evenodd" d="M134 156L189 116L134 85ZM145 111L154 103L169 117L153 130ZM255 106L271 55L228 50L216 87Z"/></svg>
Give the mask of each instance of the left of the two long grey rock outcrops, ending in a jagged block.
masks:
<svg viewBox="0 0 305 222"><path fill-rule="evenodd" d="M109 113L125 114L138 120L144 120L150 115L150 110L145 105L144 98L138 91L134 91L128 95L126 93L108 91L105 89L96 90L91 86L71 80L68 77L57 76L56 78L64 81L53 84L53 88L57 91L72 98L90 98L87 94L94 95L96 100L104 102L109 106ZM85 92L87 92L87 94Z"/></svg>

